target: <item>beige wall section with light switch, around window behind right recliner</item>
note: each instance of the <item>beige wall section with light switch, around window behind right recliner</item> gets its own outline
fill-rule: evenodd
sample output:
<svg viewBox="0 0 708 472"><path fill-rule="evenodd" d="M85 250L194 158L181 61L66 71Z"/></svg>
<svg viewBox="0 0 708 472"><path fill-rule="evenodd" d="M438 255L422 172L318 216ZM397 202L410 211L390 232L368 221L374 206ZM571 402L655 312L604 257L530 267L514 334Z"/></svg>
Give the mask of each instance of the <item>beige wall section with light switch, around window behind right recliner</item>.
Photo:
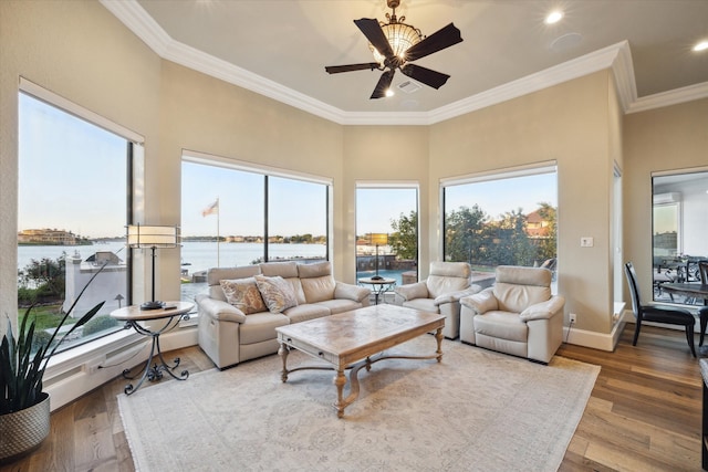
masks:
<svg viewBox="0 0 708 472"><path fill-rule="evenodd" d="M608 333L612 162L608 71L431 126L428 244L439 253L441 178L555 160L559 179L559 293L577 327ZM593 248L580 248L593 237Z"/></svg>

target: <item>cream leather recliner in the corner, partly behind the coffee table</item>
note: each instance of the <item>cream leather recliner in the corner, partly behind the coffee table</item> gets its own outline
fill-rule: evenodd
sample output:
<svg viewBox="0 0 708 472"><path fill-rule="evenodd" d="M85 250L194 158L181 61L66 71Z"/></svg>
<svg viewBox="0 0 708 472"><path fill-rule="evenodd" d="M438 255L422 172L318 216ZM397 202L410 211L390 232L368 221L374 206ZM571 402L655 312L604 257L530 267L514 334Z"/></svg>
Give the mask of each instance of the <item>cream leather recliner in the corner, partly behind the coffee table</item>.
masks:
<svg viewBox="0 0 708 472"><path fill-rule="evenodd" d="M481 290L471 283L471 276L472 268L467 262L433 262L428 279L395 289L394 303L445 315L442 335L455 339L459 336L460 298Z"/></svg>

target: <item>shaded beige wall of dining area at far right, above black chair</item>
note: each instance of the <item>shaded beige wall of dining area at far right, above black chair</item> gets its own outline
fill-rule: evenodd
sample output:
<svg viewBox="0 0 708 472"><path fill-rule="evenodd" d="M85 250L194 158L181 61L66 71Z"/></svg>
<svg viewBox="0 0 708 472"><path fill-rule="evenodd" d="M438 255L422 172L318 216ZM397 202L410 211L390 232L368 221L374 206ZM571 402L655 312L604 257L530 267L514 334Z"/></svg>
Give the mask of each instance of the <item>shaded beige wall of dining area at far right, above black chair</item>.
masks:
<svg viewBox="0 0 708 472"><path fill-rule="evenodd" d="M624 117L624 255L652 296L652 172L708 169L708 98ZM625 284L625 300L629 300Z"/></svg>

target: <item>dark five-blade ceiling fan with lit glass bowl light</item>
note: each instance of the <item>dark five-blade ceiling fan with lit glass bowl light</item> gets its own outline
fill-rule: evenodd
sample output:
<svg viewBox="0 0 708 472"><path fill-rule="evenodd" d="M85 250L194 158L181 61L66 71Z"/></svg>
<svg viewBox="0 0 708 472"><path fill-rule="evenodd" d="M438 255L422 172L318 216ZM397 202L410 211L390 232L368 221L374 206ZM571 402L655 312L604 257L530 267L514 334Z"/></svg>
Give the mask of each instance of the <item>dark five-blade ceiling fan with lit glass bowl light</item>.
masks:
<svg viewBox="0 0 708 472"><path fill-rule="evenodd" d="M417 28L403 23L406 17L396 18L396 8L400 4L400 0L387 0L386 3L393 10L393 14L386 13L388 23L379 23L371 18L354 20L354 24L368 40L376 62L329 65L324 70L330 74L367 69L384 71L369 98L382 98L387 95L396 69L433 88L440 88L450 78L448 74L412 64L412 62L462 42L460 30L450 23L429 36L424 36Z"/></svg>

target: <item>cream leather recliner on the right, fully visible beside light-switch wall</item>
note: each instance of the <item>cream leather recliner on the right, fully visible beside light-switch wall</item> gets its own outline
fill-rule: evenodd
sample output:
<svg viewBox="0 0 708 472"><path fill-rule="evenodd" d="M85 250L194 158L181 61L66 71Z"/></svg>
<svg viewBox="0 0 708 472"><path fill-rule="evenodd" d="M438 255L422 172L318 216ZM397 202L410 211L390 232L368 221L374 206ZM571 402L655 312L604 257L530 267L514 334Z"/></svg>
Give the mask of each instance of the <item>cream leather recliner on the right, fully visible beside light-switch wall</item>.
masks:
<svg viewBox="0 0 708 472"><path fill-rule="evenodd" d="M565 298L551 294L552 273L500 265L496 283L460 300L460 340L548 364L563 342Z"/></svg>

